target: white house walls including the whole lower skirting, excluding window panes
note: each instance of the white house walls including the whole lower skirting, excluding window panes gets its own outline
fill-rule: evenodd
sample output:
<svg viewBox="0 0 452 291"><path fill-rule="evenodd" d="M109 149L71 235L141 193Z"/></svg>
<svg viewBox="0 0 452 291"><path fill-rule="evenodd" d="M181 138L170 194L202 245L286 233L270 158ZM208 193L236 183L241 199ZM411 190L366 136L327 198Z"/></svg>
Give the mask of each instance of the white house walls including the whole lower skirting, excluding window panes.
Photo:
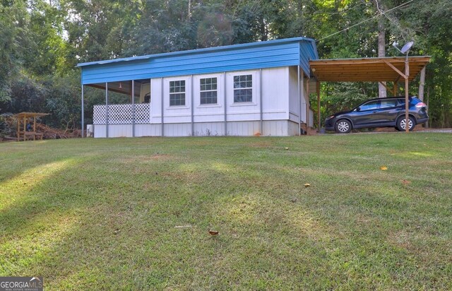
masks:
<svg viewBox="0 0 452 291"><path fill-rule="evenodd" d="M234 102L234 76L251 76L251 102ZM216 78L216 104L201 105L200 81L203 78ZM185 105L169 105L172 81L185 81ZM165 136L297 135L297 84L297 67L287 66L154 78L150 81L150 124L135 124L135 136L161 136L162 112ZM106 137L105 128L105 124L95 124L95 137ZM120 136L132 136L131 124L109 124L108 137Z"/></svg>

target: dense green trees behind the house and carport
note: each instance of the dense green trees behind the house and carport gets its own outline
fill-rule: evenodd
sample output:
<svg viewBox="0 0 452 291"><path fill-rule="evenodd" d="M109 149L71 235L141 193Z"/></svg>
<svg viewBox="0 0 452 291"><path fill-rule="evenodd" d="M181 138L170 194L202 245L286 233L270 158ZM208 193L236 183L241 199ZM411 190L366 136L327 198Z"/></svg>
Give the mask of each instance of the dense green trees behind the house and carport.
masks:
<svg viewBox="0 0 452 291"><path fill-rule="evenodd" d="M0 0L0 114L51 112L52 126L79 126L82 61L297 36L317 40L321 58L376 57L383 29L387 56L399 55L395 40L432 56L432 125L452 126L451 15L450 0ZM375 83L326 83L321 110L376 95Z"/></svg>

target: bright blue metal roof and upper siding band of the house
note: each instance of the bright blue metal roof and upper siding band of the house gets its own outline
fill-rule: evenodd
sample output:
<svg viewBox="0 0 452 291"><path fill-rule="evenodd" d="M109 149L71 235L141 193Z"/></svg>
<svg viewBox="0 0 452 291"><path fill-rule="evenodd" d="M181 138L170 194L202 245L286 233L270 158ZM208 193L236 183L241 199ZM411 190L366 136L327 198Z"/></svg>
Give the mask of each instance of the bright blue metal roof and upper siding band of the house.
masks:
<svg viewBox="0 0 452 291"><path fill-rule="evenodd" d="M278 66L301 66L309 75L309 60L319 59L316 43L306 37L209 47L141 57L78 64L82 84L129 81Z"/></svg>

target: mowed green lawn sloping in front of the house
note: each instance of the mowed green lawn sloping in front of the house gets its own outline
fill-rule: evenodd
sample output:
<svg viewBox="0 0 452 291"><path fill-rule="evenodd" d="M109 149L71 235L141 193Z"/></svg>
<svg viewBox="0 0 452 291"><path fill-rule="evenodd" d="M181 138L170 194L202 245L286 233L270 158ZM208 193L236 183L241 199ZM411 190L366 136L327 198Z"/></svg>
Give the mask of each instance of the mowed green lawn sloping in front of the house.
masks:
<svg viewBox="0 0 452 291"><path fill-rule="evenodd" d="M46 290L451 290L451 142L0 144L0 276L42 275Z"/></svg>

